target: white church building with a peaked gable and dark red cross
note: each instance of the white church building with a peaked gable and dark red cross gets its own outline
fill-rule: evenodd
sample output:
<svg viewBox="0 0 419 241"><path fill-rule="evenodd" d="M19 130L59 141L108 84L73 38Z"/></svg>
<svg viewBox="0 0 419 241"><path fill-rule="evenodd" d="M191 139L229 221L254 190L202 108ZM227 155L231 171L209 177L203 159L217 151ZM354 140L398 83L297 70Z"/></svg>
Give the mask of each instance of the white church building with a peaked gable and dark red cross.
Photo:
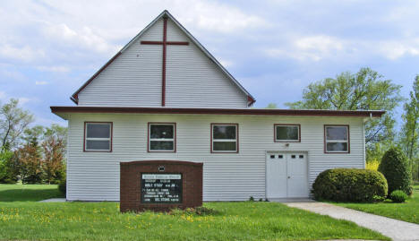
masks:
<svg viewBox="0 0 419 241"><path fill-rule="evenodd" d="M120 162L203 163L204 201L308 197L328 168L365 168L383 111L251 108L255 99L164 11L71 97L67 200L119 201Z"/></svg>

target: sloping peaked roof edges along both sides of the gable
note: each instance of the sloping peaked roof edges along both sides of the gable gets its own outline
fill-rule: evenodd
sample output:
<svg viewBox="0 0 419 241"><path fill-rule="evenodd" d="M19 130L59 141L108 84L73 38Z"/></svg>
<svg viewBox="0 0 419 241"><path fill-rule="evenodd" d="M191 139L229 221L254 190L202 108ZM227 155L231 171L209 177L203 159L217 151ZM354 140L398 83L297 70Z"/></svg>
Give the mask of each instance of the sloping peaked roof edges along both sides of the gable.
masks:
<svg viewBox="0 0 419 241"><path fill-rule="evenodd" d="M78 95L79 95L79 93L81 92L81 90L83 90L84 88L86 88L86 86L88 86L89 84L90 84L90 82L92 82L97 76L98 76L98 74L99 73L101 73L103 70L105 70L106 68L107 68L107 65L110 65L118 56L120 56L122 53L124 53L124 51L128 48L128 47L130 47L131 45L133 45L133 43L137 40L137 39L139 39L140 37L141 37L141 35L144 33L144 32L146 32L147 30L149 30L150 29L150 27L151 26L153 26L154 25L154 23L156 23L156 22L158 22L158 20L159 19L161 19L161 18L163 18L163 17L167 17L167 18L169 18L171 21L173 21L173 22L175 22L175 24L176 24L176 26L178 27L178 28L180 28L181 30L183 30L184 31L184 34L186 34L186 36L187 37L189 37L191 40L192 40L192 42L197 46L197 47L199 47L200 49L201 49L201 51L207 56L207 57L209 57L209 59L212 61L212 62L214 62L214 64L216 64L216 65L218 65L218 67L220 68L220 70L223 72L223 73L225 73L226 75L227 75L227 77L232 81L232 82L234 82L235 83L235 85L240 89L240 90L242 90L243 92L244 92L244 94L245 95L247 95L247 100L248 100L248 106L250 107L250 106L252 106L252 104L256 101L256 99L254 99L253 97L252 97L252 95L247 91L247 90L245 90L244 89L244 87L239 83L239 82L237 82L237 80L235 80L235 77L233 77L233 75L231 75L231 73L228 73L228 71L227 71L227 69L223 66L223 65L221 65L219 62L218 62L218 60L214 57L214 56L212 56L210 53L209 53L209 51L205 48L205 47L203 47L202 45L201 45L201 43L197 40L197 39L195 39L193 36L192 36L192 34L188 31L188 30L186 30L185 28L184 28L184 26L182 26L182 24L180 24L180 22L177 22L177 20L175 20L175 17L173 17L172 16L172 14L170 14L167 10L165 10L165 11L163 11L162 13L160 13L159 15L158 15L158 17L156 18L156 19L154 19L152 22L150 22L150 24L149 25L147 25L147 27L145 27L143 30L141 30L141 32L139 33L139 34L137 34L137 36L135 36L133 39L131 39L131 41L129 41L128 42L128 44L126 44L121 50L119 50L116 54L115 54L115 56L113 56L111 59L109 59L108 61L107 61L107 64L105 64L105 65L103 65L99 70L98 70L98 72L96 72L95 74L93 74L93 76L91 76L90 77L90 79L87 81L87 82L85 82L83 85L81 85L81 87L79 88L79 90L77 90L77 91L75 91L74 93L73 93L73 95L70 97L70 99L72 99L73 100L73 102L74 103L76 103L76 104L78 104L79 103L79 97L78 97Z"/></svg>

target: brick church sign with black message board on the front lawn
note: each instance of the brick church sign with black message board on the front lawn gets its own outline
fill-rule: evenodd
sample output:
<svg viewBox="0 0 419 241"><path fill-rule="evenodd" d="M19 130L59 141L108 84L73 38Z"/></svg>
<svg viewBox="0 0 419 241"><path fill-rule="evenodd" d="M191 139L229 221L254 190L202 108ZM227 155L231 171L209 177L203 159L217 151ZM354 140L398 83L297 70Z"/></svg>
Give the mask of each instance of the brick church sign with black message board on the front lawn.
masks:
<svg viewBox="0 0 419 241"><path fill-rule="evenodd" d="M120 163L120 211L170 211L202 205L202 163L143 160Z"/></svg>

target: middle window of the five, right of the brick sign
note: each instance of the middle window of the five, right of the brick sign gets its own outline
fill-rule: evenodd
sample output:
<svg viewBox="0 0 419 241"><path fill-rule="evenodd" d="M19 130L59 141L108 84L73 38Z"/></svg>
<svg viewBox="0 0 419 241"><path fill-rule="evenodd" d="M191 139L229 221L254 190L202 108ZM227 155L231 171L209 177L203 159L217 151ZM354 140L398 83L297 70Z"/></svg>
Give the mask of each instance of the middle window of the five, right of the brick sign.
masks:
<svg viewBox="0 0 419 241"><path fill-rule="evenodd" d="M211 124L211 152L238 152L238 125Z"/></svg>

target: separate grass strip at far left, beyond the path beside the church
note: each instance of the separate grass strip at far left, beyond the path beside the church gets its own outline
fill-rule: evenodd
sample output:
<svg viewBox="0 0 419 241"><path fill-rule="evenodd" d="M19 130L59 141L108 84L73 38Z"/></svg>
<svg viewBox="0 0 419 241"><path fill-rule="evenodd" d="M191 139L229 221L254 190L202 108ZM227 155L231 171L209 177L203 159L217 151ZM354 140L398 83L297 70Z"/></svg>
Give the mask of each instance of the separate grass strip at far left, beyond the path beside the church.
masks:
<svg viewBox="0 0 419 241"><path fill-rule="evenodd" d="M0 184L0 202L40 201L62 196L57 189L57 185Z"/></svg>

